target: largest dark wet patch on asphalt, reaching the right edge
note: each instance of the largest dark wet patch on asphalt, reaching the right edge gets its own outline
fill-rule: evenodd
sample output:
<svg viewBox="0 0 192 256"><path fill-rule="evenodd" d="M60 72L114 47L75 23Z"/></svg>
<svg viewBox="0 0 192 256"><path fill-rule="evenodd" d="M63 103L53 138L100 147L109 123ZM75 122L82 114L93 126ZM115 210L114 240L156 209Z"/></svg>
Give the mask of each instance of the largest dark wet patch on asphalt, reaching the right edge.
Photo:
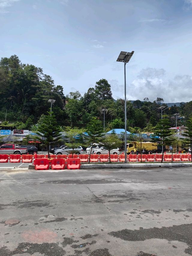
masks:
<svg viewBox="0 0 192 256"><path fill-rule="evenodd" d="M110 236L120 238L125 241L144 241L147 239L166 239L168 241L185 242L188 248L185 253L192 255L192 223L173 225L172 227L153 227L144 229L140 227L139 230L119 230L108 233Z"/></svg>

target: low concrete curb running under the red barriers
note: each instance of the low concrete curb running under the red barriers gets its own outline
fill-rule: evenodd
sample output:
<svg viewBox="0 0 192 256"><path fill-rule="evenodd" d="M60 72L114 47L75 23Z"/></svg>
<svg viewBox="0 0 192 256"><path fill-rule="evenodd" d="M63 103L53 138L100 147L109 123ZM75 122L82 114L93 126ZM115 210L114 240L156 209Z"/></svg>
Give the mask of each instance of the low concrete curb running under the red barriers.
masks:
<svg viewBox="0 0 192 256"><path fill-rule="evenodd" d="M83 163L81 169L106 169L106 168L158 168L158 167L189 167L192 163ZM29 170L34 170L35 166L30 163Z"/></svg>

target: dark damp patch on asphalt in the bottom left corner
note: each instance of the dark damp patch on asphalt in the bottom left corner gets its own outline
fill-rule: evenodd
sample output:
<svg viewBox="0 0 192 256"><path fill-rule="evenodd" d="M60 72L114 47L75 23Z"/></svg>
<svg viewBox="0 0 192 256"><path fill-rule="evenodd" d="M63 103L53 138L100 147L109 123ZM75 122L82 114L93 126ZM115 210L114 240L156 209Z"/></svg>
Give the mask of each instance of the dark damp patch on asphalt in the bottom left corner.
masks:
<svg viewBox="0 0 192 256"><path fill-rule="evenodd" d="M63 250L56 243L42 243L42 244L33 244L33 243L19 243L16 249L10 251L7 246L0 248L0 255L11 256L15 254L24 254L29 253L31 255L35 253L40 253L45 256L63 256L66 254L66 251Z"/></svg>

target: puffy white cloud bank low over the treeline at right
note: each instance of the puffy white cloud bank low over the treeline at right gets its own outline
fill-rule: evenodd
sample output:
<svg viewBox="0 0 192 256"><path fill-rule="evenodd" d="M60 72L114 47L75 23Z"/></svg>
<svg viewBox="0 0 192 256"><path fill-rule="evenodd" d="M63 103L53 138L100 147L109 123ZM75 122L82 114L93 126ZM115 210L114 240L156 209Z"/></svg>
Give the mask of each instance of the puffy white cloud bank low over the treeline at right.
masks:
<svg viewBox="0 0 192 256"><path fill-rule="evenodd" d="M124 97L124 84L109 80L115 99ZM164 102L188 102L192 98L192 76L177 75L168 80L164 69L142 69L138 78L127 84L127 97L131 100L143 100L148 97L154 101L157 97Z"/></svg>

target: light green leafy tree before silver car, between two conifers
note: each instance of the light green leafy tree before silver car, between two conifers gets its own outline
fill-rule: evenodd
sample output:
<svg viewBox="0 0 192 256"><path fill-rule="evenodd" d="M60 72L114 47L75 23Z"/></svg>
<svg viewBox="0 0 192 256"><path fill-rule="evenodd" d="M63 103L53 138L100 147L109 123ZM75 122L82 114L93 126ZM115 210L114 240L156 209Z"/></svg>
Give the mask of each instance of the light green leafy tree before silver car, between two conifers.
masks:
<svg viewBox="0 0 192 256"><path fill-rule="evenodd" d="M71 150L67 151L69 154L78 154L79 151L76 151L75 149L78 146L82 146L82 133L85 132L84 129L79 129L78 127L65 127L65 137L69 140L69 142L66 142L65 145L69 146Z"/></svg>

